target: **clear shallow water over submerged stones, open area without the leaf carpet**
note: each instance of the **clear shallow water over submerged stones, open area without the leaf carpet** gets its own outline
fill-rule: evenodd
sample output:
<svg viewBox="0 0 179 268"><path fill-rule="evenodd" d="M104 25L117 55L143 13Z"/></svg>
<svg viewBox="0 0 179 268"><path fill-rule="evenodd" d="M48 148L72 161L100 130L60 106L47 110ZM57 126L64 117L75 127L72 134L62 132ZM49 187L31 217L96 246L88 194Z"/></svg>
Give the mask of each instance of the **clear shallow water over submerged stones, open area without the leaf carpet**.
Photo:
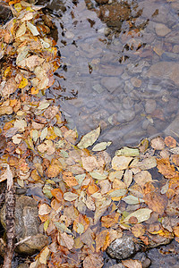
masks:
<svg viewBox="0 0 179 268"><path fill-rule="evenodd" d="M177 134L178 1L50 1L62 68L47 90L71 128L114 147Z"/></svg>

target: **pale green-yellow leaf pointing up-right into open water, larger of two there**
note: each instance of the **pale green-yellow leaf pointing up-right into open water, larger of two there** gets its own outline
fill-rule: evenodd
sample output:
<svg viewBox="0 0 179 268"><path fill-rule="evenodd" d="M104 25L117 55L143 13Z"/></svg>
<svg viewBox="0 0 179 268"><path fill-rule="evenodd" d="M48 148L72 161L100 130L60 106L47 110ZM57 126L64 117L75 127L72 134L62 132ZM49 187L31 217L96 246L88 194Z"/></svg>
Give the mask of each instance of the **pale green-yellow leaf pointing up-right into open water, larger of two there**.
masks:
<svg viewBox="0 0 179 268"><path fill-rule="evenodd" d="M86 135L84 135L81 138L81 141L79 142L77 147L79 147L80 149L90 147L98 139L99 134L100 134L100 126L96 130L92 130Z"/></svg>

